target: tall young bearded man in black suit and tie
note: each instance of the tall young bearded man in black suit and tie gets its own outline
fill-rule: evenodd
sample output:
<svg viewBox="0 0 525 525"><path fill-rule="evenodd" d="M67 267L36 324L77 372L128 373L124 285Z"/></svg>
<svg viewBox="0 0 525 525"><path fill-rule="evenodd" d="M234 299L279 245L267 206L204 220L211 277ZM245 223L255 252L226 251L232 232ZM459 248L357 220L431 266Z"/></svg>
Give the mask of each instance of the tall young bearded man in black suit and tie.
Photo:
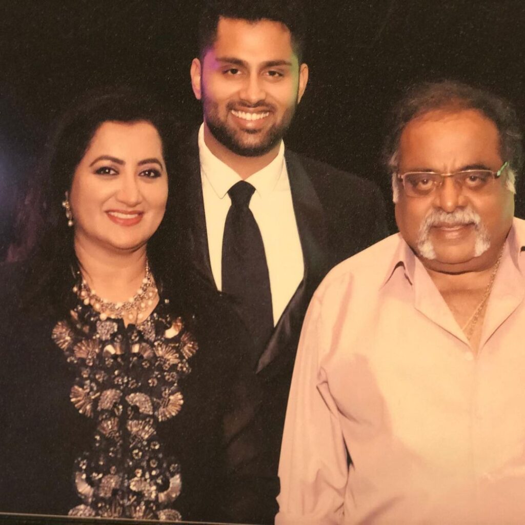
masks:
<svg viewBox="0 0 525 525"><path fill-rule="evenodd" d="M308 82L305 33L295 2L207 3L191 66L204 123L179 157L182 252L196 280L238 316L260 388L254 398L239 387L225 422L230 467L243 480L228 490L239 494L236 519L250 523L277 512L282 427L312 293L335 264L387 235L373 184L285 151Z"/></svg>

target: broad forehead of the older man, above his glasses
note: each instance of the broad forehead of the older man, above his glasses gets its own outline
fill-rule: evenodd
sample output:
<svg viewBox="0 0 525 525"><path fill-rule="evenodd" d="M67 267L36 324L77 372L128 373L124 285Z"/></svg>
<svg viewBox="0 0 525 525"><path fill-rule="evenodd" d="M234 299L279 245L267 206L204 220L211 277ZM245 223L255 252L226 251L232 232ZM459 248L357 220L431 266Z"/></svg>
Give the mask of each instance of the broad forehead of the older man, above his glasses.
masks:
<svg viewBox="0 0 525 525"><path fill-rule="evenodd" d="M404 171L456 170L473 164L499 168L500 139L496 124L474 109L434 110L406 125L400 140Z"/></svg>

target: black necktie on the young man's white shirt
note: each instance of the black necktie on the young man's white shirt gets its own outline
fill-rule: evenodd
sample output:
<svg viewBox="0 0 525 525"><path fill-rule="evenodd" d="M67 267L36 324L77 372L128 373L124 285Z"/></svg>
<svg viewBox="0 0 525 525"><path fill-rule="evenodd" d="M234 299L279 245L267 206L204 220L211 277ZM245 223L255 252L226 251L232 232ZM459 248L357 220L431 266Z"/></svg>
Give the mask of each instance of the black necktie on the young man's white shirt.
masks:
<svg viewBox="0 0 525 525"><path fill-rule="evenodd" d="M274 328L270 278L262 237L248 205L255 188L239 181L228 191L232 199L224 225L222 288L233 297L249 330L258 359Z"/></svg>

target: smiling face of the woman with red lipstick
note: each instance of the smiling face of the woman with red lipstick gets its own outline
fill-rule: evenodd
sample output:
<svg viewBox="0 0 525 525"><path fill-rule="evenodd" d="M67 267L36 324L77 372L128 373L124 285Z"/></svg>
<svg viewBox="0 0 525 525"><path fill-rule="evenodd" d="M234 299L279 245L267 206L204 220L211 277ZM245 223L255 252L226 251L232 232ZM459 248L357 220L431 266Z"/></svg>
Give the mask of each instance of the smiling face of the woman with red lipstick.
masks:
<svg viewBox="0 0 525 525"><path fill-rule="evenodd" d="M82 253L145 250L166 207L159 133L149 122L104 122L78 164L69 199ZM143 267L143 266L142 266Z"/></svg>

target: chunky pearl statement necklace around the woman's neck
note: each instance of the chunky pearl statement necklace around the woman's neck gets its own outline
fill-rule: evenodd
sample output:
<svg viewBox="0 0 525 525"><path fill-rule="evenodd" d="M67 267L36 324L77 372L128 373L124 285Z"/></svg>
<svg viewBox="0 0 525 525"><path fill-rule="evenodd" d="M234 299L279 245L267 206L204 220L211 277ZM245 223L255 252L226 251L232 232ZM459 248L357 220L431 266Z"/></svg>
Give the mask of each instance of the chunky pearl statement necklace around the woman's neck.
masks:
<svg viewBox="0 0 525 525"><path fill-rule="evenodd" d="M78 272L80 275L80 272ZM73 291L84 304L91 304L93 309L100 312L100 320L105 321L108 317L126 318L133 321L141 321L146 310L153 306L153 301L158 297L159 290L151 274L149 262L146 260L146 275L142 279L142 285L133 297L124 302L111 302L102 299L95 290L91 290L86 279L81 278L80 285L75 285Z"/></svg>

